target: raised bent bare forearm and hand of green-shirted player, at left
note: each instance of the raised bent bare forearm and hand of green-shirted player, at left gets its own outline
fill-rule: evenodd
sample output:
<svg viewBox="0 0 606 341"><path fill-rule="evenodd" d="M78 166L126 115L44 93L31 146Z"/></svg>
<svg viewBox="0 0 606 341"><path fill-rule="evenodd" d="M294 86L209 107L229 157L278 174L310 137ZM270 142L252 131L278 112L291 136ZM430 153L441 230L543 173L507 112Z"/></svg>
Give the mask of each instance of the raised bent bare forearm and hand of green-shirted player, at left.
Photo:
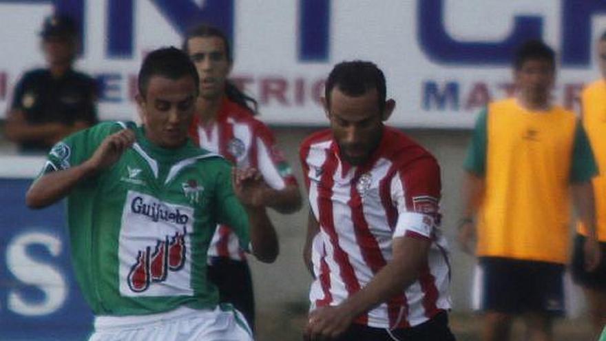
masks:
<svg viewBox="0 0 606 341"><path fill-rule="evenodd" d="M94 176L101 169L116 163L134 141L135 134L132 130L122 130L107 136L87 161L68 169L44 174L34 181L25 194L25 204L39 209L56 203L69 194L81 180Z"/></svg>

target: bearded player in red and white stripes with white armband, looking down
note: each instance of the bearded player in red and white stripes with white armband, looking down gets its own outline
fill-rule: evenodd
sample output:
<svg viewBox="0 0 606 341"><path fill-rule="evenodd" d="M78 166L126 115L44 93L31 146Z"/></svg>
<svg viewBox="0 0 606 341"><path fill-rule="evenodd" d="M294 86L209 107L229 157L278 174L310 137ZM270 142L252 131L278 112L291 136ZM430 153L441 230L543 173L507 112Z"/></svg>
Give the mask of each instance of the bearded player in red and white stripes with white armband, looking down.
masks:
<svg viewBox="0 0 606 341"><path fill-rule="evenodd" d="M309 340L454 340L435 158L384 126L395 107L370 62L326 81L331 128L300 149L311 206Z"/></svg>

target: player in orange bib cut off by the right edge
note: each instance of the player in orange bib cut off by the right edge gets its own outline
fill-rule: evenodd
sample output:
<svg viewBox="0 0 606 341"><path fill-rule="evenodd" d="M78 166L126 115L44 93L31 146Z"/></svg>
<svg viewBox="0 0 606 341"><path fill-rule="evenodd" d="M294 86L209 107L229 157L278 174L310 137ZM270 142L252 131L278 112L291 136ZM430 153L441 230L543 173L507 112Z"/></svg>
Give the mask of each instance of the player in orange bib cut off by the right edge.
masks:
<svg viewBox="0 0 606 341"><path fill-rule="evenodd" d="M577 225L578 234L574 240L572 257L572 275L585 292L594 325L594 340L606 325L606 176L603 173L606 170L606 32L600 37L597 48L603 79L585 87L581 99L583 127L600 169L600 175L593 178L592 184L596 196L596 229L602 258L594 271L587 271L583 267L583 244L587 238L587 227L582 222Z"/></svg>

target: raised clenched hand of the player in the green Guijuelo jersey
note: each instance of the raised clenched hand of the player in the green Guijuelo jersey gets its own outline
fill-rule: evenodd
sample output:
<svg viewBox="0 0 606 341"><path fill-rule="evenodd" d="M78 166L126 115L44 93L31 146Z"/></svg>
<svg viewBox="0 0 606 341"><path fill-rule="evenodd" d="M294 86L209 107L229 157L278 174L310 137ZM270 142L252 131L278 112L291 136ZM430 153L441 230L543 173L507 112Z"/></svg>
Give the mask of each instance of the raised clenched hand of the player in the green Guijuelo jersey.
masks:
<svg viewBox="0 0 606 341"><path fill-rule="evenodd" d="M129 129L111 134L103 140L87 164L96 171L114 165L135 140L135 133Z"/></svg>

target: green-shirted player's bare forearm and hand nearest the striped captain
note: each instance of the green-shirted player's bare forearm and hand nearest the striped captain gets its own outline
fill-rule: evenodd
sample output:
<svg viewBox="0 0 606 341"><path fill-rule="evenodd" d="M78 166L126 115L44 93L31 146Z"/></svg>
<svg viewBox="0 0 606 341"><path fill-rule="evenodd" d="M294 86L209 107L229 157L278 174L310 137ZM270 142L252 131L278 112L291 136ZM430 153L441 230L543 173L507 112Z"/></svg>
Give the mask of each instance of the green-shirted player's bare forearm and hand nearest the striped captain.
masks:
<svg viewBox="0 0 606 341"><path fill-rule="evenodd" d="M278 258L280 247L278 235L267 216L262 200L264 186L261 174L257 169L233 169L233 192L246 209L251 225L251 244L253 254L262 261L271 263Z"/></svg>

